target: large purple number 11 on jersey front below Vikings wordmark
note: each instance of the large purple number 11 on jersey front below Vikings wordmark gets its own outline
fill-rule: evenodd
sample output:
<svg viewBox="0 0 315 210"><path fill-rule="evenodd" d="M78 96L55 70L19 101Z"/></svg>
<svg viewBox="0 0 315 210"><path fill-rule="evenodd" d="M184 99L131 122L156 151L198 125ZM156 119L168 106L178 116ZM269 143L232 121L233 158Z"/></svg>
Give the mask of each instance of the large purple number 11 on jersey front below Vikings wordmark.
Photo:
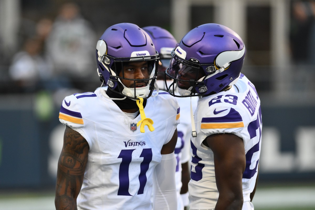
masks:
<svg viewBox="0 0 315 210"><path fill-rule="evenodd" d="M121 150L118 158L122 161L119 166L119 188L118 196L132 196L129 194L129 164L132 160L133 150ZM152 161L152 149L143 149L140 157L143 157L143 161L140 164L139 183L140 187L138 195L143 194L144 187L146 186L146 172L149 169L149 164Z"/></svg>

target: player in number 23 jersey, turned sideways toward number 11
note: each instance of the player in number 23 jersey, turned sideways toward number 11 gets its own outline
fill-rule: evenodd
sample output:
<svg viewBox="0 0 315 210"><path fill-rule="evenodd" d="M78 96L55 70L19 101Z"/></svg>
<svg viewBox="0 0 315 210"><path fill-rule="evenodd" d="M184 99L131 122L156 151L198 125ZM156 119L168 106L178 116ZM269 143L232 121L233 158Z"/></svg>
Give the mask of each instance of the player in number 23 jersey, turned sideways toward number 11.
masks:
<svg viewBox="0 0 315 210"><path fill-rule="evenodd" d="M177 97L201 96L191 141L190 210L254 209L262 122L255 86L241 73L245 54L238 34L214 23L192 29L172 51L169 93L176 84Z"/></svg>

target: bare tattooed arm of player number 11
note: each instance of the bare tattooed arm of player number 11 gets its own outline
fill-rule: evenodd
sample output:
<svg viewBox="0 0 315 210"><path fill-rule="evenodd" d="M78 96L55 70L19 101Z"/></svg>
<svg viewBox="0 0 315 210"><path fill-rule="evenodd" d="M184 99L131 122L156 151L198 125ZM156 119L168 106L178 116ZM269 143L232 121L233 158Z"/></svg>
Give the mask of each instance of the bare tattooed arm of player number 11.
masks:
<svg viewBox="0 0 315 210"><path fill-rule="evenodd" d="M81 134L66 126L58 161L56 210L77 210L77 196L83 183L88 151L88 142Z"/></svg>

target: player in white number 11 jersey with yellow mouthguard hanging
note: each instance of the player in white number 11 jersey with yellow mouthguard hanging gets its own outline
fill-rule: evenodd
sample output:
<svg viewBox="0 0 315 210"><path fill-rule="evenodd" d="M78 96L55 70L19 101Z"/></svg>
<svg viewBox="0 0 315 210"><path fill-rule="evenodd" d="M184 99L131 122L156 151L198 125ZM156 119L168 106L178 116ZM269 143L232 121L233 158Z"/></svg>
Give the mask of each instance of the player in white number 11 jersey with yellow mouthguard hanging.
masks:
<svg viewBox="0 0 315 210"><path fill-rule="evenodd" d="M153 185L153 209L176 209L179 105L153 92L151 38L135 24L113 25L97 42L96 60L107 91L67 96L60 108L56 209L151 210Z"/></svg>

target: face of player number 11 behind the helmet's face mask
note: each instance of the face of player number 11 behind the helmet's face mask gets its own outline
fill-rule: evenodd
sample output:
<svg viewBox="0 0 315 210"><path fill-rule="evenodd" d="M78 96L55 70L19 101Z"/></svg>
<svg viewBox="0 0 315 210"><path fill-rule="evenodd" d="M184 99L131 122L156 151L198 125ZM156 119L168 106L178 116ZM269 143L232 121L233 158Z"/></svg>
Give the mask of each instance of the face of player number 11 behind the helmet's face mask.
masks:
<svg viewBox="0 0 315 210"><path fill-rule="evenodd" d="M123 70L119 73L120 77L128 79L148 79L148 62L147 61L132 61L124 63ZM147 80L143 81L133 81L127 79L121 79L121 82L127 88L141 88L148 84Z"/></svg>

